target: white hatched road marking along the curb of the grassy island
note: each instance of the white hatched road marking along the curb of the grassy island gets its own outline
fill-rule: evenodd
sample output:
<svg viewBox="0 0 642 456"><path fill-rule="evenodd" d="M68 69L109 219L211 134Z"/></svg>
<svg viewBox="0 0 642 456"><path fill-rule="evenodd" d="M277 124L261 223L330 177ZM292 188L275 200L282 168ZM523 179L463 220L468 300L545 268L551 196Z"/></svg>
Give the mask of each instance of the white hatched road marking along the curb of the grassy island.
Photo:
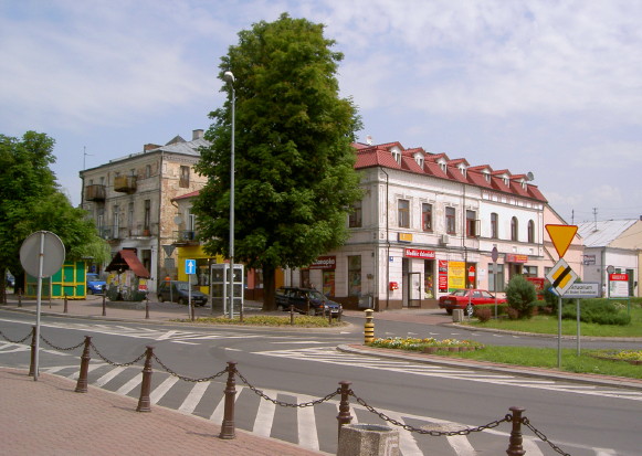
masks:
<svg viewBox="0 0 642 456"><path fill-rule="evenodd" d="M335 347L312 347L288 350L256 351L254 354L299 359L307 361L325 362L339 365L360 367L393 372L406 372L423 377L439 377L442 379L469 380L473 382L506 384L512 386L532 388L540 390L554 390L559 392L598 395L604 397L618 397L632 401L642 401L642 392L617 388L604 388L589 384L577 384L557 380L525 378L508 373L496 373L465 368L445 367L438 364L423 364L378 358L373 356L347 353L336 350Z"/></svg>

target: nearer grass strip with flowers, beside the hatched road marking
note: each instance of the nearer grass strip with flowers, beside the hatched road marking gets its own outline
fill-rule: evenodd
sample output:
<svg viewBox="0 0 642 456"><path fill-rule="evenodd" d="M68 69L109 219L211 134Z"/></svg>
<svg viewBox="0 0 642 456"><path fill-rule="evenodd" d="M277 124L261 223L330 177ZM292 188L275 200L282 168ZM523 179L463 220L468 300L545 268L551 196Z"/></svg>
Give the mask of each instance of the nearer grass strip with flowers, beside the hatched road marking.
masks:
<svg viewBox="0 0 642 456"><path fill-rule="evenodd" d="M596 356L606 354L617 357L617 353L612 351L607 353L606 350L582 350L578 357L575 349L562 349L560 370L575 373L642 379L642 365L634 365L624 360L596 358ZM487 346L483 350L440 352L440 356L512 365L557 369L557 349L551 348ZM642 357L642 352L636 352L636 357Z"/></svg>

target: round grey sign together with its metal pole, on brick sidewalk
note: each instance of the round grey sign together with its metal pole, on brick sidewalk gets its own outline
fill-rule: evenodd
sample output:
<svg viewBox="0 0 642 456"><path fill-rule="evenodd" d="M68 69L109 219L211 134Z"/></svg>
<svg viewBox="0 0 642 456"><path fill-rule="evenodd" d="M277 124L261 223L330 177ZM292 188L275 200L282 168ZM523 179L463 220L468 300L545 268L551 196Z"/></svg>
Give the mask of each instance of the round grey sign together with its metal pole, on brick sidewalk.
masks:
<svg viewBox="0 0 642 456"><path fill-rule="evenodd" d="M35 300L35 357L33 381L38 381L40 351L40 310L42 301L42 278L51 277L59 271L65 258L65 247L59 236L49 231L31 233L20 247L20 263L24 271L38 277ZM51 291L49 294L51 297Z"/></svg>

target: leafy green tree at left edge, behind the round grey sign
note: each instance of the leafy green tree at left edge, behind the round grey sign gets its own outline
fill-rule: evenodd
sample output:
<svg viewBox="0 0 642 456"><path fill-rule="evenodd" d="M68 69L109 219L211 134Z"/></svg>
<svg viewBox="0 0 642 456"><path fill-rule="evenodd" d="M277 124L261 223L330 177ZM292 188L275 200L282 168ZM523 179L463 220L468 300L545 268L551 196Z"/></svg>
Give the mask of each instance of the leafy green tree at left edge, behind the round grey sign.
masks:
<svg viewBox="0 0 642 456"><path fill-rule="evenodd" d="M0 301L6 300L4 272L21 278L20 246L35 231L57 234L67 259L103 262L109 256L85 211L60 191L50 169L53 146L52 138L35 131L21 139L0 135Z"/></svg>

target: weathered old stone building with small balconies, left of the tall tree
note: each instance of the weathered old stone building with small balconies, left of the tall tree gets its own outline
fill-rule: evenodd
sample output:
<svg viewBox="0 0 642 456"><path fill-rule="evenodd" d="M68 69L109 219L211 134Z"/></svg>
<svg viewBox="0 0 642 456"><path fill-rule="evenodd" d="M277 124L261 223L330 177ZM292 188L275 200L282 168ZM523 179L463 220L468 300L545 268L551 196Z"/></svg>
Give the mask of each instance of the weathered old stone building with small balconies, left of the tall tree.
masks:
<svg viewBox="0 0 642 456"><path fill-rule="evenodd" d="M136 252L151 274L150 291L156 291L158 280L177 277L173 244L178 237L185 240L193 221L189 214L179 214L172 200L206 184L207 178L193 170L203 146L208 141L203 130L197 129L190 141L177 136L165 146L147 144L141 152L80 173L82 208L113 254L124 248Z"/></svg>

